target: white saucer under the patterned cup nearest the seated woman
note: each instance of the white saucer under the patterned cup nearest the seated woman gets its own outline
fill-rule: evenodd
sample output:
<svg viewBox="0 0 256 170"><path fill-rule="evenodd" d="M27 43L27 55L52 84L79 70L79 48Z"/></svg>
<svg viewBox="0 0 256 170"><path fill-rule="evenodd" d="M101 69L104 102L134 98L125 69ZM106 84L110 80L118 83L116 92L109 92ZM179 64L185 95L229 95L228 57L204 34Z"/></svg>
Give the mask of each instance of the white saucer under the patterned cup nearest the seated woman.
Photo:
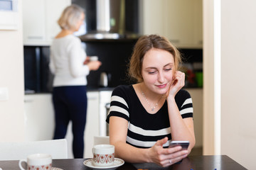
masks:
<svg viewBox="0 0 256 170"><path fill-rule="evenodd" d="M124 164L124 160L119 158L114 158L114 164L112 166L94 166L92 164L92 159L87 159L84 162L84 165L91 168L91 169L108 169L108 170L114 170L117 169L117 167L122 166Z"/></svg>

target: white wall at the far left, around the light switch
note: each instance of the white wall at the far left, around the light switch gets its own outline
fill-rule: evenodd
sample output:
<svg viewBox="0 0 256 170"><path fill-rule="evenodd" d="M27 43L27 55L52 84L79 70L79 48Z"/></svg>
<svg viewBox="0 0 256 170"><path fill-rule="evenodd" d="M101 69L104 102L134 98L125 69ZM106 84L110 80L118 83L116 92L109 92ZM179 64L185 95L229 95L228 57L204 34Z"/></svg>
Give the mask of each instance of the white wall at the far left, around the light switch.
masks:
<svg viewBox="0 0 256 170"><path fill-rule="evenodd" d="M22 1L18 1L18 30L0 30L0 88L9 100L0 101L0 142L24 140Z"/></svg>

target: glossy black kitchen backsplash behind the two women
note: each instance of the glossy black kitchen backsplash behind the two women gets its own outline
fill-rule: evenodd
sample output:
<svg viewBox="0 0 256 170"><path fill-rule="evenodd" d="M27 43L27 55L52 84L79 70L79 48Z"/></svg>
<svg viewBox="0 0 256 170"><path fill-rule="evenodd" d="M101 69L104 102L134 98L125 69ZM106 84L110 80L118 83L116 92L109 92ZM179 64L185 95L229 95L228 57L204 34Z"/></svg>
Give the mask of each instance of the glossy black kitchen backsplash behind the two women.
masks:
<svg viewBox="0 0 256 170"><path fill-rule="evenodd" d="M102 66L90 72L87 77L88 88L100 88L100 74L109 74L108 87L119 84L132 84L127 77L127 64L132 55L136 39L126 40L88 40L85 42L87 55L97 55ZM186 73L186 87L202 87L203 84L203 50L180 49L184 63L181 69ZM50 47L24 46L25 90L28 93L49 93L52 90L53 75L48 63Z"/></svg>

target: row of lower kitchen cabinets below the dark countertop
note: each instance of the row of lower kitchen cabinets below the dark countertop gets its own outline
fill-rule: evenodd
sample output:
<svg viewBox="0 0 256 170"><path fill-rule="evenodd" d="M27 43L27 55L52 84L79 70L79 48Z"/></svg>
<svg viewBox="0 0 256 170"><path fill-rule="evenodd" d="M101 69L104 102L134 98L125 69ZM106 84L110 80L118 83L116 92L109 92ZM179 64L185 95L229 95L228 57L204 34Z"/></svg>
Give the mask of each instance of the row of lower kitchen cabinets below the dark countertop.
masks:
<svg viewBox="0 0 256 170"><path fill-rule="evenodd" d="M193 100L194 129L196 135L196 146L203 145L203 89L186 89ZM103 91L104 92L104 91ZM94 136L100 135L100 115L99 91L87 92L87 123L85 126L85 152L84 157L92 157L92 146ZM25 95L25 125L26 141L51 140L54 132L54 111L51 94L26 94ZM102 109L105 109L103 106ZM104 120L105 121L105 118ZM68 140L68 158L73 158L72 152L72 124L68 125L66 139Z"/></svg>

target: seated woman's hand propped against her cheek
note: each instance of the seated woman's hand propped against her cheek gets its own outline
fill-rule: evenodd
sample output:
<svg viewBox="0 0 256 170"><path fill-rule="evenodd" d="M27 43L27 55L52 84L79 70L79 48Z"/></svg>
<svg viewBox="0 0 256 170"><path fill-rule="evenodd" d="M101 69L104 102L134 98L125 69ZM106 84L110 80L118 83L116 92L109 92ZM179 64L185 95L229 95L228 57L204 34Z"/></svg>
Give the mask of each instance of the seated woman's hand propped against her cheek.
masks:
<svg viewBox="0 0 256 170"><path fill-rule="evenodd" d="M167 96L175 97L178 91L185 85L185 74L180 71L176 71L174 74L173 81L167 92Z"/></svg>

